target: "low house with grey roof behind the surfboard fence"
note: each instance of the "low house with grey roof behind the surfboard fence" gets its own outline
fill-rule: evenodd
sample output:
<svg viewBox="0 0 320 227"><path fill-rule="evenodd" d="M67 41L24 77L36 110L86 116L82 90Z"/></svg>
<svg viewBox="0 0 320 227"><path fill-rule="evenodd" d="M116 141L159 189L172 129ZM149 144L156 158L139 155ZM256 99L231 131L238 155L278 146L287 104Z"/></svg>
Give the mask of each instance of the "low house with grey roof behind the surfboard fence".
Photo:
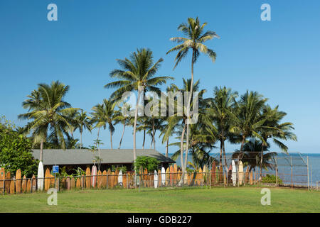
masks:
<svg viewBox="0 0 320 227"><path fill-rule="evenodd" d="M100 170L111 169L114 171L117 167L127 167L127 171L134 170L133 166L133 149L100 149L93 153L87 149L45 149L43 150L43 165L52 168L53 165L59 165L59 167L66 167L67 172L70 170L81 167L85 170L86 167L94 165L95 157L99 157L101 153ZM175 163L171 158L166 157L156 150L152 149L137 149L138 156L155 157L159 160L161 167L168 167L171 163ZM33 157L39 159L40 150L33 150ZM97 161L95 164L98 165Z"/></svg>

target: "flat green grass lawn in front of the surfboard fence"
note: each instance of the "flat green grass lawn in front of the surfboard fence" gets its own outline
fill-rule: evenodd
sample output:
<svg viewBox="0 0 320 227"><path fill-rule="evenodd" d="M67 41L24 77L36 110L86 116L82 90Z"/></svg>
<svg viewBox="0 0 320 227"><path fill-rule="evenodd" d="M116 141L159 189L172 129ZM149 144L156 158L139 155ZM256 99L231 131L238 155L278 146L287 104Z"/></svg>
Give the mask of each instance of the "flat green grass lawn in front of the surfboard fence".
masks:
<svg viewBox="0 0 320 227"><path fill-rule="evenodd" d="M270 189L271 205L262 206L261 189L109 189L0 196L1 212L320 212L320 192Z"/></svg>

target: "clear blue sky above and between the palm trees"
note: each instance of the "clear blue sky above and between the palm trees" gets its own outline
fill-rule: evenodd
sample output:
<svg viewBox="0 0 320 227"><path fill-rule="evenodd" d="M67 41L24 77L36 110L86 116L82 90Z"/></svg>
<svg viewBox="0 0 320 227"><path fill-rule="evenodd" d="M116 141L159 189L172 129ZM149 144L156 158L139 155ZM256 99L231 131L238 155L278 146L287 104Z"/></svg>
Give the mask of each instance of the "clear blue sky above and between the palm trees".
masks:
<svg viewBox="0 0 320 227"><path fill-rule="evenodd" d="M58 6L58 21L47 20L47 6ZM260 20L260 6L270 4L272 21ZM66 101L89 111L112 90L116 58L136 48L151 48L154 57L164 57L159 75L191 77L189 56L176 70L174 46L169 38L181 35L177 26L199 16L220 39L206 43L217 54L215 64L200 57L195 78L211 95L213 87L230 87L240 94L260 92L287 112L285 121L296 128L298 142L287 142L290 151L319 153L320 128L320 1L0 1L0 114L18 126L24 113L21 102L41 82L60 80L70 85ZM119 143L122 127L114 135ZM76 133L75 135L78 135ZM97 131L85 133L92 145ZM109 131L103 131L104 147L110 146ZM142 146L142 134L137 138ZM148 138L147 147L150 140ZM132 129L127 128L123 148L132 148ZM228 145L233 151L238 146ZM165 151L157 143L157 149ZM176 148L171 147L169 152ZM272 147L272 150L279 150ZM218 150L217 150L218 151Z"/></svg>

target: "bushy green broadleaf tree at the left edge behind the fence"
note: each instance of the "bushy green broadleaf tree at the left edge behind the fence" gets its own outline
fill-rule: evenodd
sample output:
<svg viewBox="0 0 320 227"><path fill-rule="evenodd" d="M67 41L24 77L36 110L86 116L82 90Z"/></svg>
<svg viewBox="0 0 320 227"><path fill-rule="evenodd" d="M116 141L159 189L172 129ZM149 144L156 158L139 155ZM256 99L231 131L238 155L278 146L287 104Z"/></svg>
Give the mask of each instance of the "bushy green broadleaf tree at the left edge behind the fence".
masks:
<svg viewBox="0 0 320 227"><path fill-rule="evenodd" d="M31 150L32 142L15 131L15 126L4 117L0 118L0 165L6 171L16 173L20 169L22 175L31 177L38 170Z"/></svg>

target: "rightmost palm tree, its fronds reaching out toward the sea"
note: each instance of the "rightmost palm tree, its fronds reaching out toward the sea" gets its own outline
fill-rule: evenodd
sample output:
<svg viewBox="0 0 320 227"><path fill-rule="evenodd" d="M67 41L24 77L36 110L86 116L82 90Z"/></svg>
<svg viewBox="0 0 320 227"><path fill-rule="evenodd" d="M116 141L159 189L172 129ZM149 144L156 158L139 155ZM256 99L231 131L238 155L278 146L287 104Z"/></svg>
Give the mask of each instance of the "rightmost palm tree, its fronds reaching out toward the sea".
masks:
<svg viewBox="0 0 320 227"><path fill-rule="evenodd" d="M294 129L293 123L284 122L281 123L282 118L287 114L283 111L278 110L279 106L272 109L269 105L263 106L262 118L266 121L260 128L259 134L263 138L261 154L260 154L260 177L262 177L262 162L263 162L263 151L267 147L267 140L272 139L275 145L277 145L285 153L288 151L288 147L284 145L280 140L294 140L297 141L297 135L291 131ZM280 139L280 140L279 140Z"/></svg>

